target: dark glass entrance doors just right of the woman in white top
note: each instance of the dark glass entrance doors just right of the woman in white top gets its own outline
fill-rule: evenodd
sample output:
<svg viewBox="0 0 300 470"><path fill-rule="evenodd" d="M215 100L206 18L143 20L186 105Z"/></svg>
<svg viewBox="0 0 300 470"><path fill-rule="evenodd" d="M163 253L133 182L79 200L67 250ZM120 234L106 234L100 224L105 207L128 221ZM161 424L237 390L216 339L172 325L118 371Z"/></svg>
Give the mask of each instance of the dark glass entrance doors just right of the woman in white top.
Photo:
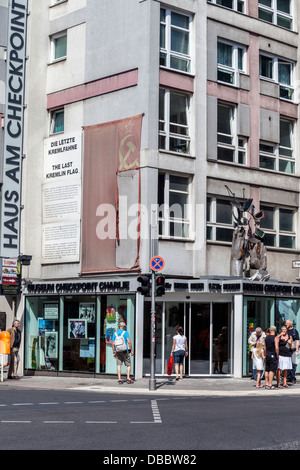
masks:
<svg viewBox="0 0 300 470"><path fill-rule="evenodd" d="M191 303L189 375L231 374L231 304Z"/></svg>

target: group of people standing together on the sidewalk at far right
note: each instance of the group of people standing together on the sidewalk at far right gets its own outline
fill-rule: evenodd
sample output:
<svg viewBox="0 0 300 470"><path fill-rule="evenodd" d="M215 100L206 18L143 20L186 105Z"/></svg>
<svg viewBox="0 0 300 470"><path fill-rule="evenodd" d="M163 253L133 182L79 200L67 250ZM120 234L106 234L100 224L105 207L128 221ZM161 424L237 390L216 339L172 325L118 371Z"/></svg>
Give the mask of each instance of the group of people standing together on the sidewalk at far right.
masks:
<svg viewBox="0 0 300 470"><path fill-rule="evenodd" d="M290 384L296 383L297 363L292 361L292 357L298 355L299 333L291 320L286 320L279 334L276 334L275 326L265 331L256 328L248 344L251 346L253 371L256 371L256 388L263 388L263 374L267 389L289 388ZM273 385L274 377L276 385Z"/></svg>

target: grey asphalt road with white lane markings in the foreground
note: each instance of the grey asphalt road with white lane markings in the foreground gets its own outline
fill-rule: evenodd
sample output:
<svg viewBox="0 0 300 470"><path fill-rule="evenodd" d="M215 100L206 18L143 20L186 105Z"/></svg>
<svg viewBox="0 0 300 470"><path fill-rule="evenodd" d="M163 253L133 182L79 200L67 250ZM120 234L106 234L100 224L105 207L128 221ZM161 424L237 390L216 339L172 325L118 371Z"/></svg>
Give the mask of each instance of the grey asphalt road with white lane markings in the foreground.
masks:
<svg viewBox="0 0 300 470"><path fill-rule="evenodd" d="M299 405L298 396L210 398L1 390L0 449L105 451L100 459L112 458L107 451L114 450L118 450L116 455L168 451L195 455L195 459L195 451L200 450L298 450ZM148 453L135 455L146 459Z"/></svg>

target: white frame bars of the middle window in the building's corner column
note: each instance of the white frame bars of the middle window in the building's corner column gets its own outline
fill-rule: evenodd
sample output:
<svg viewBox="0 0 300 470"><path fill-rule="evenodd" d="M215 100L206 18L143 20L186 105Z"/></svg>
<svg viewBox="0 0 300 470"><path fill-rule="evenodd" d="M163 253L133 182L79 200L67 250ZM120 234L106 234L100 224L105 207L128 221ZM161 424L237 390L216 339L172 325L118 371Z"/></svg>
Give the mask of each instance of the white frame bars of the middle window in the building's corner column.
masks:
<svg viewBox="0 0 300 470"><path fill-rule="evenodd" d="M161 150L167 150L169 152L178 152L183 155L189 155L190 154L190 143L191 143L191 138L190 138L190 115L189 115L189 108L190 108L190 95L187 93L183 93L180 91L176 90L171 90L168 88L160 88L160 92L164 92L164 119L159 119L159 137L162 137L165 140L165 146L160 147ZM171 94L174 95L180 95L183 96L186 100L186 107L185 107L185 113L186 113L186 120L187 120L187 125L183 124L177 124L177 123L172 123L171 122ZM171 132L171 126L176 126L179 128L182 128L183 132L185 134L177 134L174 132ZM184 141L186 142L186 150L180 151L178 150L172 150L171 145L170 145L170 140L179 140L179 141Z"/></svg>

